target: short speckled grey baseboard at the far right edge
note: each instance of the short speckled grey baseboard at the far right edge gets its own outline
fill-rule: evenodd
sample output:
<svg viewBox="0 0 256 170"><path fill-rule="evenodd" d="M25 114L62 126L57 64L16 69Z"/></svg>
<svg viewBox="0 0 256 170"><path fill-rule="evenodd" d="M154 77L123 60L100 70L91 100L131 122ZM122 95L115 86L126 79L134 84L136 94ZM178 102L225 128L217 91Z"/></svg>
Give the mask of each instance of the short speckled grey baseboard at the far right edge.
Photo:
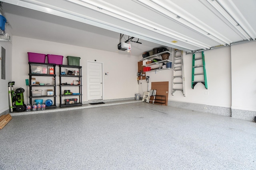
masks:
<svg viewBox="0 0 256 170"><path fill-rule="evenodd" d="M254 121L254 117L256 116L255 111L239 110L239 109L231 109L231 111L232 111L233 118Z"/></svg>

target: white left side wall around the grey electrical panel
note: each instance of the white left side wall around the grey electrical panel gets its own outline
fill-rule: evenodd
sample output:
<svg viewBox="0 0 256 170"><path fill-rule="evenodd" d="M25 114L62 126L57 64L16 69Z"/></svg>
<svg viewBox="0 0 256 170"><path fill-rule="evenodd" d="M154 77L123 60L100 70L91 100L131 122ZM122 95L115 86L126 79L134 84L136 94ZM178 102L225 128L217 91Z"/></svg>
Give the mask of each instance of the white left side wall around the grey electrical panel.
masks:
<svg viewBox="0 0 256 170"><path fill-rule="evenodd" d="M6 33L8 33L12 39L12 35L8 31L8 27L6 26ZM5 73L6 79L0 79L0 114L9 109L9 100L8 100L8 82L12 80L12 43L6 41L0 41L0 54L1 54L1 47L5 49L6 56L5 56ZM0 60L1 62L1 60ZM1 74L1 69L0 69Z"/></svg>

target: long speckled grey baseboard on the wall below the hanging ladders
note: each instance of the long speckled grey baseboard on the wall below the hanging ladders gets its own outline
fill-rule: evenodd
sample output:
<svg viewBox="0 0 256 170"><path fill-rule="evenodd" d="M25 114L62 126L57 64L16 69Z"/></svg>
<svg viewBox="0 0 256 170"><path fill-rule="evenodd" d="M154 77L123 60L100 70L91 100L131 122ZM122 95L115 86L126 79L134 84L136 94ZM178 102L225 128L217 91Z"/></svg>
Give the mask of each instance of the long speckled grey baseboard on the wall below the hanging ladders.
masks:
<svg viewBox="0 0 256 170"><path fill-rule="evenodd" d="M213 113L223 116L231 116L231 108L220 107L220 106L210 106L206 104L196 104L196 103L186 103L168 100L168 106L183 108L188 110L194 110L204 113Z"/></svg>

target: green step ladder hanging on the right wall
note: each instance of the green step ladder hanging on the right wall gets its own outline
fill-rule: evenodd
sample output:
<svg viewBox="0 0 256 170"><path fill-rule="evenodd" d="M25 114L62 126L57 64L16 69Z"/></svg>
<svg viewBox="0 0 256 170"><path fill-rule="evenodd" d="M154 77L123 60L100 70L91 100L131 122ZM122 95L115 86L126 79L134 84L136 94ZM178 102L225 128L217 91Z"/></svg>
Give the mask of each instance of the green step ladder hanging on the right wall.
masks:
<svg viewBox="0 0 256 170"><path fill-rule="evenodd" d="M202 51L202 57L195 58L196 53L193 53L192 59L192 84L191 87L194 89L197 83L204 84L204 87L208 89L207 79L206 79L206 69L205 69L205 61L204 61L204 52ZM202 60L202 62L200 62ZM195 64L195 62L200 62L200 65ZM196 69L196 73L195 73ZM195 79L195 76L197 77Z"/></svg>

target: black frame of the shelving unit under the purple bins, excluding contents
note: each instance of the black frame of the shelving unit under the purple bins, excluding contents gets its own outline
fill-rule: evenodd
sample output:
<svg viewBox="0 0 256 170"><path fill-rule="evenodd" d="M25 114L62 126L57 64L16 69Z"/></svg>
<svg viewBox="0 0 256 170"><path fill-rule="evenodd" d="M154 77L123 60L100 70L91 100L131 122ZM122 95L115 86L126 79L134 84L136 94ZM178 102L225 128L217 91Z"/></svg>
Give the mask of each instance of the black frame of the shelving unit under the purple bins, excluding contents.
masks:
<svg viewBox="0 0 256 170"><path fill-rule="evenodd" d="M48 64L48 63L37 63L37 62L28 62L29 64L29 102L30 104L32 103L32 98L53 98L53 104L52 106L47 106L47 108L56 108L56 73L55 73L55 68L56 68L56 64ZM36 65L41 65L41 66L46 66L46 71L47 74L36 74L36 73L32 73L31 70L31 65L36 64ZM48 68L49 67L53 67L54 68L54 74L49 74ZM31 79L32 77L35 76L44 76L44 77L52 77L54 78L54 84L50 84L50 85L32 85L31 84ZM32 88L38 88L38 87L51 87L53 88L53 94L52 96L32 96Z"/></svg>

